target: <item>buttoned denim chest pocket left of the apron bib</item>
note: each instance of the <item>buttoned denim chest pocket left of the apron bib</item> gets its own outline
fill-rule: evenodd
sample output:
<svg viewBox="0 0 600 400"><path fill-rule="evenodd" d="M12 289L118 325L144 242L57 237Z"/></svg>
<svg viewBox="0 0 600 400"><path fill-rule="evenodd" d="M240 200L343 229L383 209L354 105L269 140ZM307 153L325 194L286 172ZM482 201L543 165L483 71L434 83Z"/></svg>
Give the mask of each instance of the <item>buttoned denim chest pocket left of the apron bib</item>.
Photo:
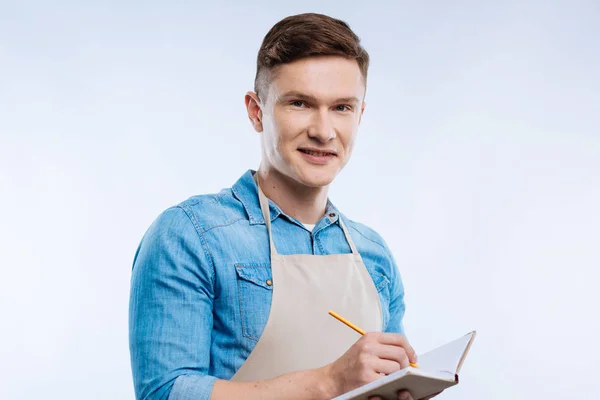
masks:
<svg viewBox="0 0 600 400"><path fill-rule="evenodd" d="M271 300L273 281L270 265L236 264L242 334L258 341L265 329Z"/></svg>

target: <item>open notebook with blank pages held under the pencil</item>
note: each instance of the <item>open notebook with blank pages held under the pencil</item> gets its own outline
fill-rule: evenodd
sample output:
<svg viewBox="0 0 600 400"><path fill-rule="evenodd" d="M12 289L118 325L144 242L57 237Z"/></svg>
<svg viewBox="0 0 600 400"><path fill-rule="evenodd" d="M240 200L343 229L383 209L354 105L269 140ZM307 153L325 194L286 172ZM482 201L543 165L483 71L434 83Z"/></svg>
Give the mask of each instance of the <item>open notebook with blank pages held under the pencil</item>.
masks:
<svg viewBox="0 0 600 400"><path fill-rule="evenodd" d="M458 384L458 372L473 339L475 332L419 355L419 368L404 368L333 400L367 400L375 395L384 399L396 399L396 393L402 389L408 389L415 399L441 392Z"/></svg>

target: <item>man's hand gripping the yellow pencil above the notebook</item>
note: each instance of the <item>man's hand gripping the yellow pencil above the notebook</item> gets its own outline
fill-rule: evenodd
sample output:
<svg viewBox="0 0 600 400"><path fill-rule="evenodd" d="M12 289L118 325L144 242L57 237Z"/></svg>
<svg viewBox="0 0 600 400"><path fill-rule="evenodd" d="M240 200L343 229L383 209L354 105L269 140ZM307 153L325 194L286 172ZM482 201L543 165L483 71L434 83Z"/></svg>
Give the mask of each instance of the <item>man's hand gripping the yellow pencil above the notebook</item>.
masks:
<svg viewBox="0 0 600 400"><path fill-rule="evenodd" d="M369 332L340 358L324 367L332 397L373 382L416 363L415 351L397 333ZM399 394L400 395L400 394Z"/></svg>

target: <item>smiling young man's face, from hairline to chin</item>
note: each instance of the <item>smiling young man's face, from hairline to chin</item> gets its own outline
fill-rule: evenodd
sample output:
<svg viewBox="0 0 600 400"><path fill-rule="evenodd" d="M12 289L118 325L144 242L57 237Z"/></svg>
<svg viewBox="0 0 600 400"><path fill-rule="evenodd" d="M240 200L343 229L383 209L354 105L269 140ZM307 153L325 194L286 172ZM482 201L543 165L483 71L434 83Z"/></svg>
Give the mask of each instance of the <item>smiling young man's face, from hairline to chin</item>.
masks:
<svg viewBox="0 0 600 400"><path fill-rule="evenodd" d="M352 154L364 94L355 60L321 56L280 65L260 107L263 164L302 185L329 185Z"/></svg>

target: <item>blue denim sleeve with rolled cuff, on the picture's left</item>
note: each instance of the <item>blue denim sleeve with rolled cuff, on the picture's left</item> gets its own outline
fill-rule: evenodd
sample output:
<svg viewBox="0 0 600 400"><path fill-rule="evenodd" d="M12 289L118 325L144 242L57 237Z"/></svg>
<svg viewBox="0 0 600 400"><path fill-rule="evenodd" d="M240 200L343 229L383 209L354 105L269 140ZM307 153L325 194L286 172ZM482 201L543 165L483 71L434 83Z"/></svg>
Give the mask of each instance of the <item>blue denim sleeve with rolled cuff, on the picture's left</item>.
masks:
<svg viewBox="0 0 600 400"><path fill-rule="evenodd" d="M214 269L186 211L166 210L134 258L129 347L137 399L209 399Z"/></svg>

